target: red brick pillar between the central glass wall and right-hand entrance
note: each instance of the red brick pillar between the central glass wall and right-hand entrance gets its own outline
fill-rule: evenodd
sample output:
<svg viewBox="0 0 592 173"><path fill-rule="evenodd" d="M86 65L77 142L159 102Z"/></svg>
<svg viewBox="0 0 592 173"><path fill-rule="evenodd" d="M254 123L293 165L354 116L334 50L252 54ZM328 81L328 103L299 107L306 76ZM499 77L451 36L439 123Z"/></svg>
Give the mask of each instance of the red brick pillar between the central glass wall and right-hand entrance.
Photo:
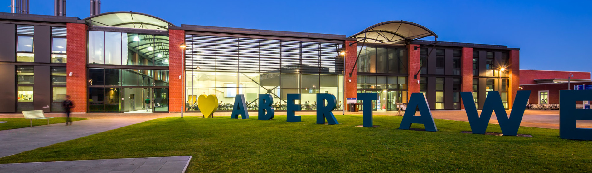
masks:
<svg viewBox="0 0 592 173"><path fill-rule="evenodd" d="M356 97L356 93L358 91L358 65L356 65L356 59L358 59L358 43L352 44L349 46L349 43L353 43L355 40L346 40L345 41L345 98L343 101L347 103L348 97ZM349 76L349 73L352 73L352 76ZM349 81L351 80L351 82ZM347 107L346 107L347 108Z"/></svg>

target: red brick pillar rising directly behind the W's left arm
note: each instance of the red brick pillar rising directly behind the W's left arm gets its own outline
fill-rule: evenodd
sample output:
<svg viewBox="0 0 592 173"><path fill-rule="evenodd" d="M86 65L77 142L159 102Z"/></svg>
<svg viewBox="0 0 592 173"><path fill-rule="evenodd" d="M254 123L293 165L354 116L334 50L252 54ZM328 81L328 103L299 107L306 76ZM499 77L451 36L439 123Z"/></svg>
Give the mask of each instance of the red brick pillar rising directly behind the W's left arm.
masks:
<svg viewBox="0 0 592 173"><path fill-rule="evenodd" d="M462 47L462 59L461 59L461 92L472 92L473 91L473 48ZM461 110L465 109L465 104L462 103L461 99Z"/></svg>

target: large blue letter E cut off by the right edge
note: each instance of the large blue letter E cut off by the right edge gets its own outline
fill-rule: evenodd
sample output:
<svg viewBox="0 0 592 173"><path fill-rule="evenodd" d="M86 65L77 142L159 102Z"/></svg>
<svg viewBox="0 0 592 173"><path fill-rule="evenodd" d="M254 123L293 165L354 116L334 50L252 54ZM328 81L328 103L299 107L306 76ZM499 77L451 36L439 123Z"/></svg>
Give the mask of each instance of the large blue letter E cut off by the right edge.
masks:
<svg viewBox="0 0 592 173"><path fill-rule="evenodd" d="M591 109L576 109L575 101L592 100L592 90L559 91L559 137L592 140L592 129L578 128L576 120L592 120Z"/></svg>

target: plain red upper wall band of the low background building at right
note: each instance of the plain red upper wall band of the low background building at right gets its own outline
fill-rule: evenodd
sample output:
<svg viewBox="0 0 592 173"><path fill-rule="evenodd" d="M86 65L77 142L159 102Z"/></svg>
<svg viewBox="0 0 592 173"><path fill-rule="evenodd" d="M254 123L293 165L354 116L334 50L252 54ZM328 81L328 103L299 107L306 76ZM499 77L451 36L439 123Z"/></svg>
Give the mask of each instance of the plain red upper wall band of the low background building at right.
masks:
<svg viewBox="0 0 592 173"><path fill-rule="evenodd" d="M590 79L590 72L565 72L565 71L536 71L520 70L520 84L536 84L535 79L567 79L572 73L572 79Z"/></svg>

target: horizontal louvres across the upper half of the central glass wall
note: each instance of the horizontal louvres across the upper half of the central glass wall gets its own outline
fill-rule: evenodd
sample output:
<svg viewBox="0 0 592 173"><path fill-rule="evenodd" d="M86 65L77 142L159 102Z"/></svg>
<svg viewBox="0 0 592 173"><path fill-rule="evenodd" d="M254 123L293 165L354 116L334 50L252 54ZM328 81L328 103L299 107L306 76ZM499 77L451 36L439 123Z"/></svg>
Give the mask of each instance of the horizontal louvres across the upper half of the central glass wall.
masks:
<svg viewBox="0 0 592 173"><path fill-rule="evenodd" d="M186 35L187 70L342 74L343 44Z"/></svg>

